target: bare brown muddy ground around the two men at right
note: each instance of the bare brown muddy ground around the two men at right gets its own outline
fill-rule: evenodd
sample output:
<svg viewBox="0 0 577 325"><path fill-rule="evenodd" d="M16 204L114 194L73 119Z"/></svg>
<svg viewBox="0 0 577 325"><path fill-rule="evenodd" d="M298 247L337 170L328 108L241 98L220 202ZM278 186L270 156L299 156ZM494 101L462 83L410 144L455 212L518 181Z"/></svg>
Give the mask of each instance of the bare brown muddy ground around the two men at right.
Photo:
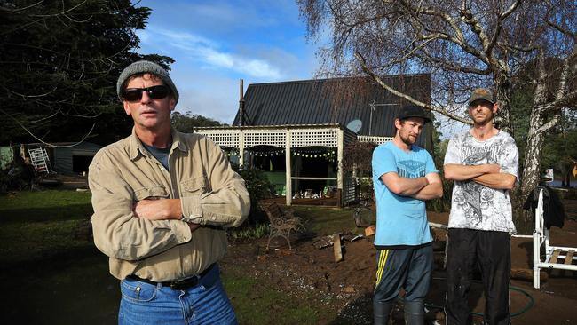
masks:
<svg viewBox="0 0 577 325"><path fill-rule="evenodd" d="M577 210L577 201L568 204L570 210ZM429 218L432 222L447 224L447 214L430 213ZM436 231L435 271L427 298L429 323L434 320L444 323L440 306L443 305L446 287L443 269L445 234L443 230ZM567 220L563 229L551 229L551 244L577 247L576 234L577 222ZM316 302L326 303L338 311L337 319L334 315L321 315L320 324L370 324L376 270L373 237L354 242L345 240L344 259L337 263L332 247L317 249L312 245L316 239L304 236L294 241L294 251L289 251L281 240L273 241L278 249L268 252L265 251L266 238L257 242L233 242L222 266L224 270L227 267L246 267L256 278L266 278L296 298L312 296ZM528 238L511 240L514 269L531 269L532 245ZM534 289L532 280L511 280L511 312L519 313L512 318L513 324L577 324L577 272L555 270L547 273L549 278L541 282L541 289ZM482 313L484 303L481 285L473 285L470 292L472 309ZM393 324L404 323L399 305L392 318ZM473 317L476 324L481 320L480 316Z"/></svg>

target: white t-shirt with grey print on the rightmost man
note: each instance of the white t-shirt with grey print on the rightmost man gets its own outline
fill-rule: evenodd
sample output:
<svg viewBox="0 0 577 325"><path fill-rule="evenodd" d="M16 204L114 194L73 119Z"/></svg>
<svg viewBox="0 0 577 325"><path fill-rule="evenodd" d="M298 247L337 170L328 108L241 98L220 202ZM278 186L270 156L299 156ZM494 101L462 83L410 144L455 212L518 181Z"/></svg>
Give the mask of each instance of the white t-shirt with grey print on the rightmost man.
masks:
<svg viewBox="0 0 577 325"><path fill-rule="evenodd" d="M518 149L505 131L486 141L475 139L470 131L456 135L447 146L444 164L449 163L468 166L496 163L502 173L518 178ZM472 180L455 181L448 227L514 233L509 191Z"/></svg>

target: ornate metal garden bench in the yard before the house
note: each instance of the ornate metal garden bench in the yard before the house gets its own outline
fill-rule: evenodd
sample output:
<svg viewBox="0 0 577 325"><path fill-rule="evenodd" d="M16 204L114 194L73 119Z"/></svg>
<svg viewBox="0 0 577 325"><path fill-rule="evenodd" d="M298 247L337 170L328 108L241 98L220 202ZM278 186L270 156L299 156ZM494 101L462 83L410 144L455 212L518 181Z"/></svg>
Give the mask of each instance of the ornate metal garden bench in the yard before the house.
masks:
<svg viewBox="0 0 577 325"><path fill-rule="evenodd" d="M292 246L290 245L290 233L296 233L298 230L304 229L301 219L294 216L292 210L281 210L281 207L276 202L264 202L259 205L260 208L265 211L270 222L266 250L269 250L271 240L274 237L282 237L286 239L288 242L288 249L292 250Z"/></svg>

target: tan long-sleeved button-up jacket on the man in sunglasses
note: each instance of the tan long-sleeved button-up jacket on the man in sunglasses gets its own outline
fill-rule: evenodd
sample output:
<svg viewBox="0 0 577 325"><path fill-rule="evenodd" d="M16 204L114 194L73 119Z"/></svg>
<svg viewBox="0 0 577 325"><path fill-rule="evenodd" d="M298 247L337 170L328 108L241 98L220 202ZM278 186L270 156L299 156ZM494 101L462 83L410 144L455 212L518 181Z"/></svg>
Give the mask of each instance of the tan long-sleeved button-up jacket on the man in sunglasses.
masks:
<svg viewBox="0 0 577 325"><path fill-rule="evenodd" d="M99 150L89 169L96 246L110 257L110 273L152 281L201 273L223 258L222 227L239 226L249 214L249 193L219 147L197 134L172 131L166 170L132 131ZM137 218L140 200L180 199L183 214L204 226L191 233L180 220Z"/></svg>

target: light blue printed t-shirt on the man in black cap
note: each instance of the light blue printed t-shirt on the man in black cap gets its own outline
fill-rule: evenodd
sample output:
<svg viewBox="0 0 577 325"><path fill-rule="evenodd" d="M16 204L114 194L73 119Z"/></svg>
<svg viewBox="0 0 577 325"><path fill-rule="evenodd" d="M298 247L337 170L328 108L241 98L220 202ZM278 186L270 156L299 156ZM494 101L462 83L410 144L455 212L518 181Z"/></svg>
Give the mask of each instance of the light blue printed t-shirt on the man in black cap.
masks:
<svg viewBox="0 0 577 325"><path fill-rule="evenodd" d="M396 172L402 178L420 178L438 172L431 155L413 145L405 152L392 142L373 152L373 186L376 200L376 246L417 246L432 241L425 202L392 193L381 176Z"/></svg>

